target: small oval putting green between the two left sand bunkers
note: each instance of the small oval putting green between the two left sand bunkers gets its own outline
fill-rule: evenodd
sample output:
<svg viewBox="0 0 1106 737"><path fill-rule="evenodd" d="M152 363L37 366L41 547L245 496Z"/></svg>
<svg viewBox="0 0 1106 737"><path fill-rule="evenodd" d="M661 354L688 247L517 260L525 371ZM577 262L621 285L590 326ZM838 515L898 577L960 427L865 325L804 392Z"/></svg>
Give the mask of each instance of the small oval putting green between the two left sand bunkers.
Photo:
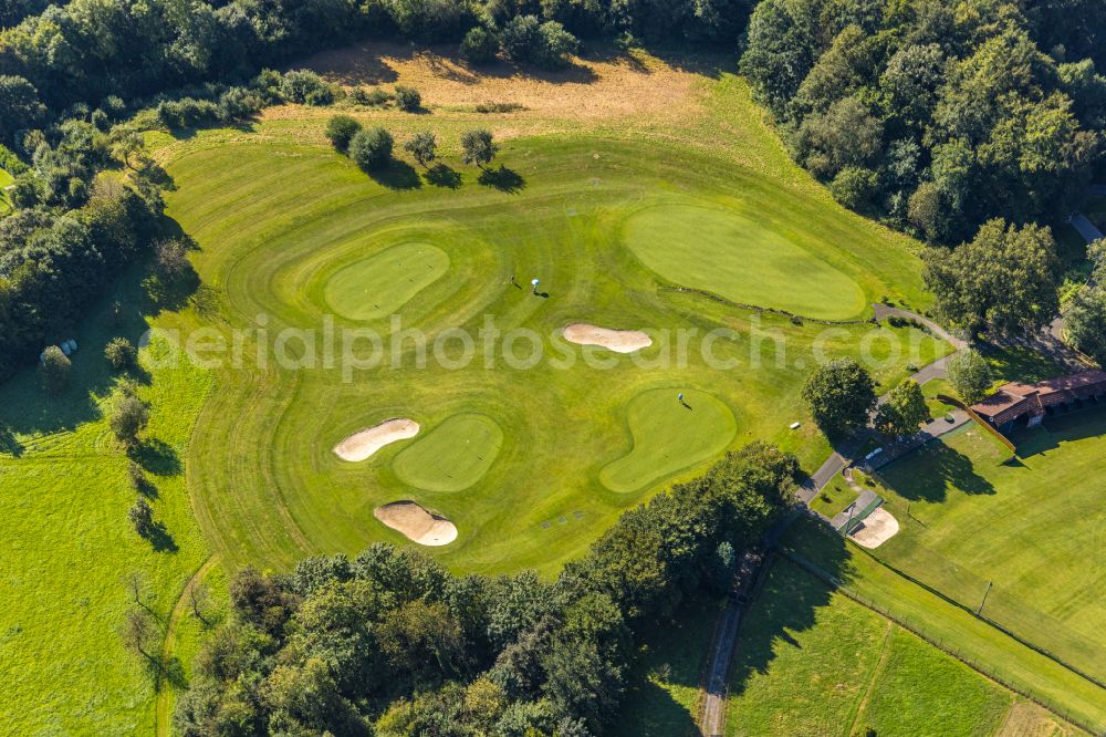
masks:
<svg viewBox="0 0 1106 737"><path fill-rule="evenodd" d="M503 430L491 417L453 415L405 448L392 469L427 491L460 491L483 478L502 445Z"/></svg>

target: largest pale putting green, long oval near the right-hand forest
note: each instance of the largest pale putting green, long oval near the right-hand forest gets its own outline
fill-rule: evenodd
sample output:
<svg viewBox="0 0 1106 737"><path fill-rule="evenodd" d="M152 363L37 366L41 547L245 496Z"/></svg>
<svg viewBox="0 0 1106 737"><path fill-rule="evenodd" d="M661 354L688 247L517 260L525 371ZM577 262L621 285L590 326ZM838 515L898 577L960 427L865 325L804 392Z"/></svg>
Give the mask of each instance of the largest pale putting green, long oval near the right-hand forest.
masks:
<svg viewBox="0 0 1106 737"><path fill-rule="evenodd" d="M633 215L623 236L647 268L682 287L824 320L865 309L864 291L848 276L737 212L659 205Z"/></svg>

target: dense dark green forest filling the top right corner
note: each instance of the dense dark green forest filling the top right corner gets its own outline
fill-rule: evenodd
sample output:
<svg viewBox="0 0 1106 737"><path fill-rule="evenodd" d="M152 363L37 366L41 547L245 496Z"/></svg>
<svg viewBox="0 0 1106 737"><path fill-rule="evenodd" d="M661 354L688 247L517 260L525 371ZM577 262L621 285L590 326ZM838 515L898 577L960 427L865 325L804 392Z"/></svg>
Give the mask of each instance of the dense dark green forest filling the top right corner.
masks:
<svg viewBox="0 0 1106 737"><path fill-rule="evenodd" d="M764 0L741 72L848 207L930 241L1076 207L1106 129L1100 0Z"/></svg>

